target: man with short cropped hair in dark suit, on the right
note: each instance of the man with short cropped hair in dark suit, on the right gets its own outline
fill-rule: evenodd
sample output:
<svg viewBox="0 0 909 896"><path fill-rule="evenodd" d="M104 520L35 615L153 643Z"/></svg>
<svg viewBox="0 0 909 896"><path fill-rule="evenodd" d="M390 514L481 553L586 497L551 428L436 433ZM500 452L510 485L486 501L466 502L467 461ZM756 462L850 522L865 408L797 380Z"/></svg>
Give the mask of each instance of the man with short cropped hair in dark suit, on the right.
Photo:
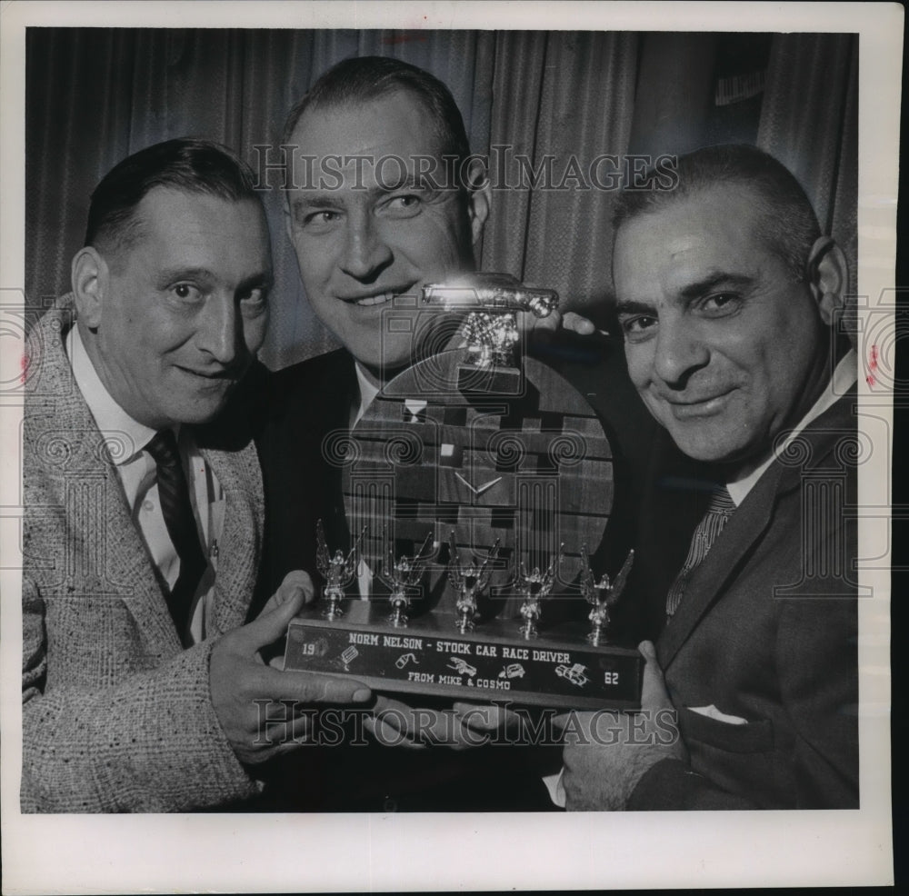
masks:
<svg viewBox="0 0 909 896"><path fill-rule="evenodd" d="M614 284L632 381L703 464L684 501L704 515L655 595L666 622L655 650L642 644L644 714L574 732L567 807L856 808L844 256L754 147L698 150L677 170L672 193L624 195Z"/></svg>

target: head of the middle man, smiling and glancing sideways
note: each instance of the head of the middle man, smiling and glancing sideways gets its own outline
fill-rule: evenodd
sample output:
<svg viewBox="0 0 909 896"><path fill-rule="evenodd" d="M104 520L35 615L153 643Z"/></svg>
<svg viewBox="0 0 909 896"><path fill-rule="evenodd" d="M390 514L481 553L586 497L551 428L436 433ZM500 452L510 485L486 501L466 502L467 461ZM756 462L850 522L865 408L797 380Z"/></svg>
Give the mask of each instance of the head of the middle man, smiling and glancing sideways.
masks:
<svg viewBox="0 0 909 896"><path fill-rule="evenodd" d="M333 74L354 95L356 79L345 72L353 70L361 81L372 74L357 62ZM456 181L469 150L445 88L393 60L374 67L381 64L398 79L410 75L424 93L386 76L384 88L371 85L375 95L342 104L332 98L336 82L324 81L307 95L287 138L320 163L318 181L286 197L287 231L306 297L371 385L413 360L414 334L383 326L395 296L415 297L425 283L472 271L473 245L489 212L488 186L476 183L482 167L470 169L473 182L467 172L464 182ZM441 117L428 126L433 100ZM457 160L452 179L445 156ZM338 174L325 172L327 159L340 161ZM421 160L434 170L421 175Z"/></svg>

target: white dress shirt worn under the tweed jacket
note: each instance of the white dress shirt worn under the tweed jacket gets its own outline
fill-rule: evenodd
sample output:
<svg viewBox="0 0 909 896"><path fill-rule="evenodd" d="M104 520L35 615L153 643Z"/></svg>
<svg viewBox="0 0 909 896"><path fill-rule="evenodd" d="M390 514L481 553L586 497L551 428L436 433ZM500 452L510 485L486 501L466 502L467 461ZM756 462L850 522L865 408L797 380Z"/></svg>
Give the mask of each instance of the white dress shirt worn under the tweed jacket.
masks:
<svg viewBox="0 0 909 896"><path fill-rule="evenodd" d="M85 352L77 326L66 335L65 348L73 367L75 384L85 398L114 461L133 523L145 542L155 570L167 586L173 588L180 574L180 558L167 533L161 510L155 461L145 451L145 445L155 435L155 430L134 420L105 389L95 365ZM199 543L203 554L208 557L208 568L199 581L190 608L189 632L181 632L181 637L188 633L191 641L196 643L204 640L207 633L206 620L214 598L217 540L224 523L225 501L220 483L190 434L181 432L179 427L175 427L175 434L189 485Z"/></svg>

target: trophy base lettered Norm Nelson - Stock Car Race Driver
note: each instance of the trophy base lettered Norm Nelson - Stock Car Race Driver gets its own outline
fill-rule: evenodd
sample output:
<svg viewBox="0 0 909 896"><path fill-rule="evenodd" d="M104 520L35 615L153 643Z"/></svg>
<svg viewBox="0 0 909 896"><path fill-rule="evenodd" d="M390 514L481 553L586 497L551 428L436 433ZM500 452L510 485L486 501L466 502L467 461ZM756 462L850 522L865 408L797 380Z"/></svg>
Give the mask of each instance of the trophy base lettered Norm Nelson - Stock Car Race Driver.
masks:
<svg viewBox="0 0 909 896"><path fill-rule="evenodd" d="M644 658L632 648L589 644L584 625L527 642L514 621L492 620L482 632L462 634L451 613L429 613L395 629L385 612L366 601L351 602L342 622L305 611L288 628L285 670L350 675L375 691L474 703L640 708Z"/></svg>

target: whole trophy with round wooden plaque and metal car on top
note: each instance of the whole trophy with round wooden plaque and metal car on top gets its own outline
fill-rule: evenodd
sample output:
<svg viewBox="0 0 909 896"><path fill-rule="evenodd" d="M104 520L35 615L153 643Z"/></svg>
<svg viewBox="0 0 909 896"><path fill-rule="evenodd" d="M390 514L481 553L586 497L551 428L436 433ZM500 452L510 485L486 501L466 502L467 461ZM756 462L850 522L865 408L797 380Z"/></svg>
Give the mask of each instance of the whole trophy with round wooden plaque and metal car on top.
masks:
<svg viewBox="0 0 909 896"><path fill-rule="evenodd" d="M612 509L609 443L584 397L517 351L515 314L551 314L557 295L476 274L422 300L463 310L464 343L385 383L324 445L371 597L348 594L343 615L307 608L285 669L469 702L637 708L643 658L608 637L632 558L611 582L587 551Z"/></svg>

